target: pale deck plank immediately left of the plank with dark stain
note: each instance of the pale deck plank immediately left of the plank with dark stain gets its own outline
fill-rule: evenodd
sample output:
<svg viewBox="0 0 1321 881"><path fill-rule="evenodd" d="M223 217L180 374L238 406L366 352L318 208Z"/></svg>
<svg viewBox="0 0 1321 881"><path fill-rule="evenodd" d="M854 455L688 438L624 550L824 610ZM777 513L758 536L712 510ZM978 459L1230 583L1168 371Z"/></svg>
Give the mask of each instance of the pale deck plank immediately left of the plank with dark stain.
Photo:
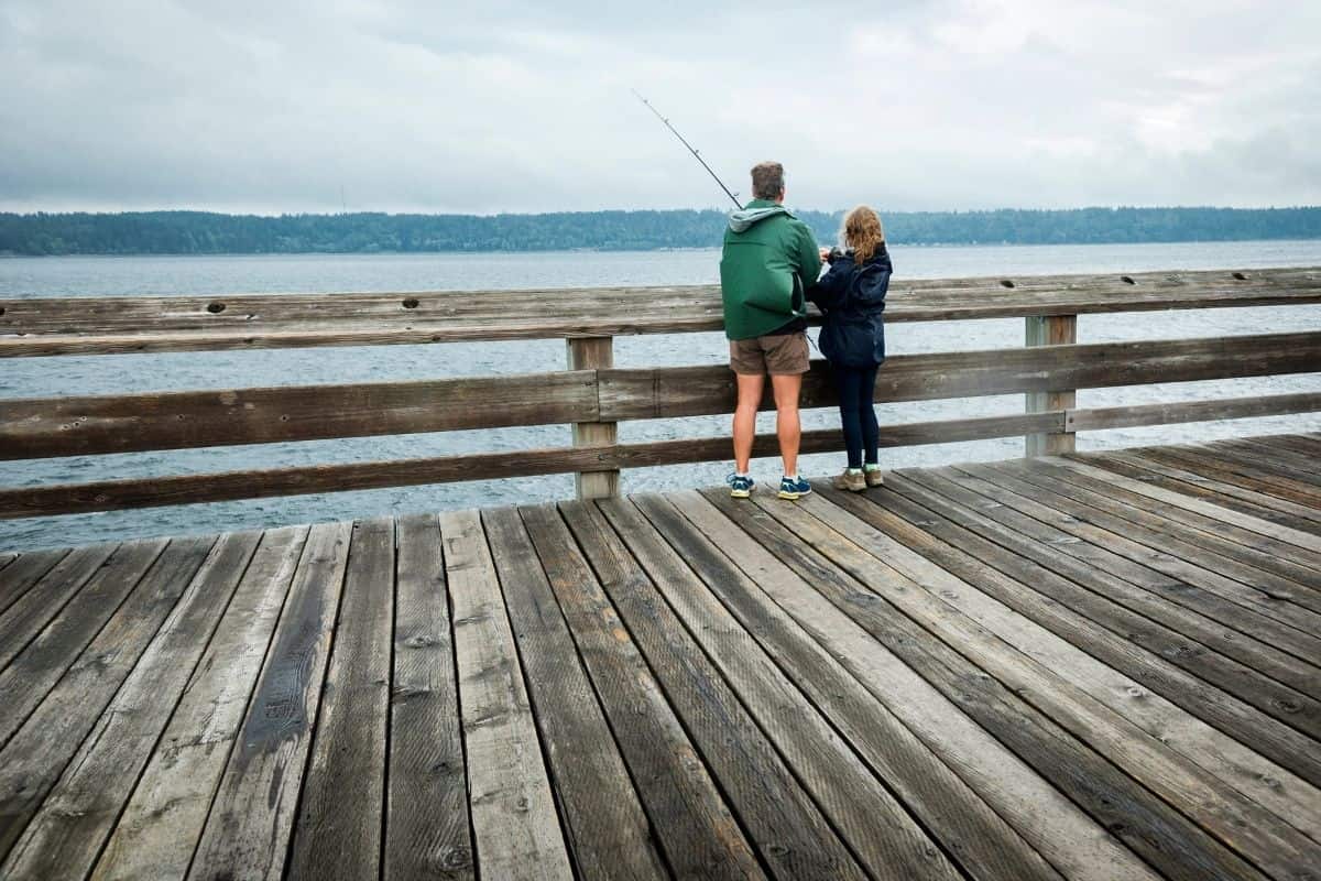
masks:
<svg viewBox="0 0 1321 881"><path fill-rule="evenodd" d="M238 737L308 527L268 530L91 874L182 878Z"/></svg>

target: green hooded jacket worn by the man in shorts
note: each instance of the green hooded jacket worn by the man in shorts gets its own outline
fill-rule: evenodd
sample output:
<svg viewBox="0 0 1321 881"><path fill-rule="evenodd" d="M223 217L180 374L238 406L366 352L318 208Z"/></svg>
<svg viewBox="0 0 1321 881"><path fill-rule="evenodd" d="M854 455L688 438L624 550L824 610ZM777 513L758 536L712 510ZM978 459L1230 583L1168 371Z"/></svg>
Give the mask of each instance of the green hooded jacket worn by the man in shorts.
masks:
<svg viewBox="0 0 1321 881"><path fill-rule="evenodd" d="M725 337L762 337L806 316L820 268L816 236L783 205L753 199L731 214L720 256Z"/></svg>

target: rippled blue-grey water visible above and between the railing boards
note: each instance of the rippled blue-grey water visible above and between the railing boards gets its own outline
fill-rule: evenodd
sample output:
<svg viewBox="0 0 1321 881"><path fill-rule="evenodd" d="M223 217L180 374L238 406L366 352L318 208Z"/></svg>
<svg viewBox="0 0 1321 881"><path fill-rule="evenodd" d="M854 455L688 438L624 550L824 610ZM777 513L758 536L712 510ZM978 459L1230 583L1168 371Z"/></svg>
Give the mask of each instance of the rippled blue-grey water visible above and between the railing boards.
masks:
<svg viewBox="0 0 1321 881"><path fill-rule="evenodd" d="M898 277L1013 277L1066 272L1151 269L1251 269L1321 265L1321 240L1120 246L988 246L893 250ZM222 258L17 258L0 259L0 296L78 297L166 293L464 291L572 288L593 285L709 284L717 251L296 255ZM1082 316L1079 342L1156 339L1321 330L1321 306L1269 306L1196 312ZM892 325L893 354L1017 347L1022 320L946 321ZM622 367L725 363L721 334L622 337ZM410 380L437 376L539 372L564 369L561 341L370 346L243 353L174 353L11 359L0 362L0 398L106 395L247 386ZM1318 365L1321 371L1321 365ZM1170 383L1132 388L1083 390L1079 407L1271 395L1321 390L1321 372L1297 376ZM1022 411L1021 395L914 402L877 408L886 423L992 416ZM830 428L832 411L806 411L803 427ZM674 437L725 436L728 416L645 420L620 427L625 442ZM764 413L760 432L774 431ZM1165 425L1078 437L1079 449L1148 442L1205 441L1254 433L1321 431L1321 415ZM4 486L38 486L198 472L374 461L476 452L559 446L567 425L404 435L394 437L262 444L164 453L128 453L7 462ZM882 450L894 468L952 461L991 461L1022 454L1022 439L938 444ZM840 454L806 456L801 470L826 474ZM778 478L778 461L753 464L762 481ZM625 472L625 491L720 483L728 462ZM415 486L370 491L111 511L0 522L0 548L82 544L151 535L214 532L280 523L371 516L390 512L552 501L573 494L572 476Z"/></svg>

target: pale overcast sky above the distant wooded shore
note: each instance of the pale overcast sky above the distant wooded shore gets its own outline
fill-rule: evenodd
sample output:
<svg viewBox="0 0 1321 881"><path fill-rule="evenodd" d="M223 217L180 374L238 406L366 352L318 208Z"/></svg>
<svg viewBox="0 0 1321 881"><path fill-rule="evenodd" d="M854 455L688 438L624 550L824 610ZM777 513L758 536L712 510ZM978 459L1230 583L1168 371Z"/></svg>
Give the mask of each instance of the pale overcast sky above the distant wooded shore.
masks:
<svg viewBox="0 0 1321 881"><path fill-rule="evenodd" d="M1321 205L1321 3L0 0L0 210Z"/></svg>

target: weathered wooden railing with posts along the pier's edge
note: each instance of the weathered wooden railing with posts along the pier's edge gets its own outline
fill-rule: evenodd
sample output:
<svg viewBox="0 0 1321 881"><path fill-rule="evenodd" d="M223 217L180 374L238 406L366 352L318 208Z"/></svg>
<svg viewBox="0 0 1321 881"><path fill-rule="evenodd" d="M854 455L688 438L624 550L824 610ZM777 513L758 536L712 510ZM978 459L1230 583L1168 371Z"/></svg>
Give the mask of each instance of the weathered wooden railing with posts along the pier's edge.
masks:
<svg viewBox="0 0 1321 881"><path fill-rule="evenodd" d="M1078 409L1078 388L1321 371L1321 333L1078 343L1079 314L1321 302L1321 269L900 281L886 320L1026 318L1026 347L896 355L877 402L1025 394L1026 412L882 427L888 446L1026 436L1028 453L1081 431L1321 409L1321 392ZM713 287L373 295L0 300L0 358L472 339L567 341L568 370L421 382L0 400L0 460L571 424L573 445L0 489L0 518L572 472L610 495L624 468L725 460L728 437L620 444L631 419L729 413L724 366L617 369L612 338L721 329ZM804 408L834 405L828 370ZM768 395L764 407L770 407ZM803 435L803 452L841 446ZM754 454L775 452L760 436Z"/></svg>

